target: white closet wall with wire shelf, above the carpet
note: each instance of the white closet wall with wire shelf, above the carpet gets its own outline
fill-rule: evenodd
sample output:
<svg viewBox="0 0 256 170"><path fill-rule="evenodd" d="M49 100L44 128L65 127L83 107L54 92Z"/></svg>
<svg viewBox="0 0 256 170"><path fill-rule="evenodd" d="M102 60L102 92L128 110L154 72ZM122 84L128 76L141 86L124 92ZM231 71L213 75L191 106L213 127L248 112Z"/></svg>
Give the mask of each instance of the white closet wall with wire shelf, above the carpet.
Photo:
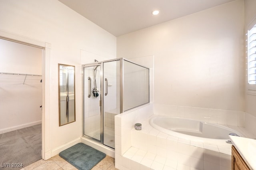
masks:
<svg viewBox="0 0 256 170"><path fill-rule="evenodd" d="M0 39L0 134L42 121L43 49Z"/></svg>

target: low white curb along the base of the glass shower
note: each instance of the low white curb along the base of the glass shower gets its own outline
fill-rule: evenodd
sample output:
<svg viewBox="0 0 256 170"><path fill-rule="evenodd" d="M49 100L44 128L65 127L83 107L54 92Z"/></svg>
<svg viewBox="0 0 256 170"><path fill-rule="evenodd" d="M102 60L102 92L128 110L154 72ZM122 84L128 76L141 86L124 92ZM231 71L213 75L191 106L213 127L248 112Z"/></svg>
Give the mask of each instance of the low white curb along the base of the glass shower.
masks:
<svg viewBox="0 0 256 170"><path fill-rule="evenodd" d="M104 146L103 144L100 144L98 142L94 142L92 140L89 140L85 137L81 138L81 142L84 144L87 144L88 146L93 147L94 149L99 150L100 152L105 153L108 156L111 156L112 158L115 158L115 150L112 148L109 148L108 146Z"/></svg>

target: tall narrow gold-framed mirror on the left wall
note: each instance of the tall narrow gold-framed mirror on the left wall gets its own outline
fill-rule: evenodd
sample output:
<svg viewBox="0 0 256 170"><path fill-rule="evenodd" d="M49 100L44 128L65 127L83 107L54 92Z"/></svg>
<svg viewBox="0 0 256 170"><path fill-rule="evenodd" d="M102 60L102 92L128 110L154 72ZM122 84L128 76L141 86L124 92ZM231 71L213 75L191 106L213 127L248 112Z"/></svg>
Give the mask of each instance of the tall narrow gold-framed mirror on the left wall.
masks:
<svg viewBox="0 0 256 170"><path fill-rule="evenodd" d="M59 126L76 121L75 66L58 64Z"/></svg>

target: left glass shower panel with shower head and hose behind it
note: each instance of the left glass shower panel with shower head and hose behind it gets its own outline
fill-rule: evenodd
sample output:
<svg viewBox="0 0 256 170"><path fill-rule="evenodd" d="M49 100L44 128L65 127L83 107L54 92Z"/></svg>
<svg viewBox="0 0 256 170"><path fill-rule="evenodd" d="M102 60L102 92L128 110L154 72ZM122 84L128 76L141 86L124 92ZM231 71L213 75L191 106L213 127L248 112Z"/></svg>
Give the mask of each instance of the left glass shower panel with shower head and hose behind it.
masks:
<svg viewBox="0 0 256 170"><path fill-rule="evenodd" d="M100 65L84 67L84 135L99 142L101 133Z"/></svg>

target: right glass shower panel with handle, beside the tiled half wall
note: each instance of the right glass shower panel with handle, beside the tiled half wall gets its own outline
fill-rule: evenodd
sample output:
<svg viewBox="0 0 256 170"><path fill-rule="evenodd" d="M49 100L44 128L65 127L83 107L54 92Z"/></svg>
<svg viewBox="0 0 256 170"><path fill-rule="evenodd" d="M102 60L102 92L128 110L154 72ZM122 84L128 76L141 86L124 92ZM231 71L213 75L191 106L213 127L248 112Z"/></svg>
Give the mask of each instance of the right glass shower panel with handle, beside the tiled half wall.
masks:
<svg viewBox="0 0 256 170"><path fill-rule="evenodd" d="M120 60L103 63L103 144L115 148L114 116L120 114Z"/></svg>

